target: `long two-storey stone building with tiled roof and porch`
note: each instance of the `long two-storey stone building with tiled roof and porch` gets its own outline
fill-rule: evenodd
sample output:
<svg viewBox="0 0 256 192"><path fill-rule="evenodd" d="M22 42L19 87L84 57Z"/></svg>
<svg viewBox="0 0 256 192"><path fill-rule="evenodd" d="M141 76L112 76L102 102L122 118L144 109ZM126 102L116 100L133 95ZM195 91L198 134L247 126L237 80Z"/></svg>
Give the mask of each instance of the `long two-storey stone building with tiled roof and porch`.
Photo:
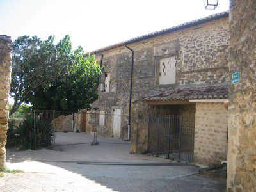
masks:
<svg viewBox="0 0 256 192"><path fill-rule="evenodd" d="M183 115L195 132L195 161L226 160L229 38L223 12L89 52L105 67L93 104L98 132L131 139L131 152L141 153L150 145L150 114Z"/></svg>

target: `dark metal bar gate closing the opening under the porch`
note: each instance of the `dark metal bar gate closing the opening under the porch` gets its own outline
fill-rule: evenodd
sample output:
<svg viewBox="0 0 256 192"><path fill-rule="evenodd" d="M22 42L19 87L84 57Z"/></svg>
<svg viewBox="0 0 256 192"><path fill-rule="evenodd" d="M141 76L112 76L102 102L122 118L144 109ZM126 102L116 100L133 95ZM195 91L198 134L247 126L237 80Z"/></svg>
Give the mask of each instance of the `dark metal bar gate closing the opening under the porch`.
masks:
<svg viewBox="0 0 256 192"><path fill-rule="evenodd" d="M168 159L194 160L195 122L182 115L149 116L148 150Z"/></svg>

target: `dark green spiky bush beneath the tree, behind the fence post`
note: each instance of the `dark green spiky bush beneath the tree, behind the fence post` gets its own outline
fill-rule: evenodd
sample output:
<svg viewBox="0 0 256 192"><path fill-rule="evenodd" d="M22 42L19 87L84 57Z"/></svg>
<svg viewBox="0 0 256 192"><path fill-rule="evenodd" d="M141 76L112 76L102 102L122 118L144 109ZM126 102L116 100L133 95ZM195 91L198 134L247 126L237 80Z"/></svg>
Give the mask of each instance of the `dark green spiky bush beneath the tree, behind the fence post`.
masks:
<svg viewBox="0 0 256 192"><path fill-rule="evenodd" d="M34 118L29 115L17 126L10 122L8 129L8 147L19 147L22 150L51 146L55 133L51 122L36 120L36 134L34 132ZM36 138L36 142L35 142Z"/></svg>

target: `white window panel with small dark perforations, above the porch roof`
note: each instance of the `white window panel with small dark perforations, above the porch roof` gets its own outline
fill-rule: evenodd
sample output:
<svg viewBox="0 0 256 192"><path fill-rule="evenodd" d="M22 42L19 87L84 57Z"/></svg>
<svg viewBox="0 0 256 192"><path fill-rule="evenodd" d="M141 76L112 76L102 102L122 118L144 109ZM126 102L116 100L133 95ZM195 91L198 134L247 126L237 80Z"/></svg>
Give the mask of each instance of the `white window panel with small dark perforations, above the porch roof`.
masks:
<svg viewBox="0 0 256 192"><path fill-rule="evenodd" d="M160 60L159 84L173 84L176 76L176 58L164 58Z"/></svg>

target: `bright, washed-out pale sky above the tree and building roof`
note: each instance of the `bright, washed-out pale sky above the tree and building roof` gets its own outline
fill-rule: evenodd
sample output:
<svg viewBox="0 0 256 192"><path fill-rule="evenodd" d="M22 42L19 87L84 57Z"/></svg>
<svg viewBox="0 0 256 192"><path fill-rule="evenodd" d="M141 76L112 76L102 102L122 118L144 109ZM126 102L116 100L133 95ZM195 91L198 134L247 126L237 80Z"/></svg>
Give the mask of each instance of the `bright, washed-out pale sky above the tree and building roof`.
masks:
<svg viewBox="0 0 256 192"><path fill-rule="evenodd" d="M219 0L205 10L204 0L0 0L0 35L56 41L70 35L73 46L93 51L136 36L228 10Z"/></svg>

